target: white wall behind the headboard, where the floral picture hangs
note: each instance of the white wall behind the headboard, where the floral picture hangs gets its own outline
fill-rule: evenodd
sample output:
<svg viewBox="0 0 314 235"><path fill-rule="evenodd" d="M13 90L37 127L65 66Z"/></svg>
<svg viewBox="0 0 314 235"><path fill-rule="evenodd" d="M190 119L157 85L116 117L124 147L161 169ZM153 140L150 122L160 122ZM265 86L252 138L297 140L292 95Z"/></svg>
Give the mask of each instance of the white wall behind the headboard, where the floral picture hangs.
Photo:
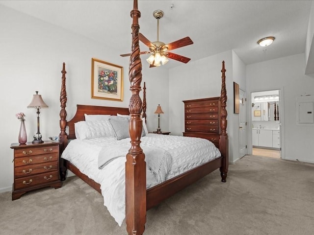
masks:
<svg viewBox="0 0 314 235"><path fill-rule="evenodd" d="M43 109L40 113L43 140L60 132L59 95L63 62L66 63L67 71L68 120L74 116L76 104L128 107L131 92L129 59L119 56L125 51L113 51L110 45L105 47L2 5L0 22L0 191L5 191L11 190L13 183L13 150L10 145L18 142L20 128L15 114L26 114L28 141L32 141L33 134L37 132L36 110L26 108L35 91L42 94L49 106L49 109ZM131 48L131 36L128 42ZM90 98L92 57L123 66L123 102ZM148 129L153 131L157 128L157 115L154 112L158 104L162 105L165 112L160 125L169 129L168 71L161 67L150 69L143 60L142 74L147 86Z"/></svg>

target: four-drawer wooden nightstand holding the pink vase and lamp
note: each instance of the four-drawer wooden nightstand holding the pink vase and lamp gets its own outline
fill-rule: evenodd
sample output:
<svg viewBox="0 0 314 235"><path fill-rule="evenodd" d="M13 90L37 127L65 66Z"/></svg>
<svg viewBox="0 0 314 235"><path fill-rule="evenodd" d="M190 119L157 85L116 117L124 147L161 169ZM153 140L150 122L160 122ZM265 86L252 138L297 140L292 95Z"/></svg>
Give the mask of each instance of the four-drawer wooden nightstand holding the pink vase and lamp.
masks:
<svg viewBox="0 0 314 235"><path fill-rule="evenodd" d="M12 201L24 193L44 188L60 188L59 146L60 142L12 143L14 149L14 183Z"/></svg>

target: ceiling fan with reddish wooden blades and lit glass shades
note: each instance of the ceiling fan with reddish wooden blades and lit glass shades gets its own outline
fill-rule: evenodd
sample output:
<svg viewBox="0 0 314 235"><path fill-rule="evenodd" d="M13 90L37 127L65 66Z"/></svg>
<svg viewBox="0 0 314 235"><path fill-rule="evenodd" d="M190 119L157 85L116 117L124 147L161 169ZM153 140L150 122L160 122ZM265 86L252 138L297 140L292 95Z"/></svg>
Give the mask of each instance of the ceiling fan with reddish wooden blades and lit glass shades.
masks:
<svg viewBox="0 0 314 235"><path fill-rule="evenodd" d="M138 33L139 40L144 43L147 47L149 47L150 51L142 51L140 54L151 54L150 57L147 59L147 62L150 64L151 67L160 66L166 64L168 62L167 58L177 60L183 63L187 63L190 61L190 58L184 57L182 55L178 55L170 50L174 50L180 47L185 47L188 45L193 44L193 41L189 37L182 38L178 41L164 44L163 42L159 41L159 19L163 17L163 11L156 10L153 12L154 17L157 19L157 41L151 42L149 41L143 34ZM122 54L120 56L130 56L131 54Z"/></svg>

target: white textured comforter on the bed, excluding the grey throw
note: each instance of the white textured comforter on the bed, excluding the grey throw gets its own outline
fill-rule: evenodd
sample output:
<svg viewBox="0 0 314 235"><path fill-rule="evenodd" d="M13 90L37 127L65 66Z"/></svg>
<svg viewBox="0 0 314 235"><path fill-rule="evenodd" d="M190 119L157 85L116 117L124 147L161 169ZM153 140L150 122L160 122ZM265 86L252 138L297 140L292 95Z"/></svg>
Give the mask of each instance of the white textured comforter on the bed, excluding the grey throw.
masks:
<svg viewBox="0 0 314 235"><path fill-rule="evenodd" d="M80 172L101 185L104 205L121 226L125 218L125 162L126 158L112 160L102 169L98 168L100 151L109 145L130 144L130 138L117 141L116 138L95 138L91 140L72 140L61 157L74 164ZM172 158L172 166L166 179L171 179L198 165L220 156L213 143L201 138L146 134L141 138L141 146L157 147L167 151ZM144 152L145 153L145 152ZM127 154L127 152L126 152ZM146 156L148 158L149 156ZM152 171L146 169L146 187L158 184Z"/></svg>

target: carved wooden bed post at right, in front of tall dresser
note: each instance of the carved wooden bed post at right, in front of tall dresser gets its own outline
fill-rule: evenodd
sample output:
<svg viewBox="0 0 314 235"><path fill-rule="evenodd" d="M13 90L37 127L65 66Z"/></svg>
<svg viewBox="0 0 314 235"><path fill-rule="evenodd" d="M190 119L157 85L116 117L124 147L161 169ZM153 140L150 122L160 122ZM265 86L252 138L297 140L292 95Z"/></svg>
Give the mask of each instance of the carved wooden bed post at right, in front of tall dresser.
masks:
<svg viewBox="0 0 314 235"><path fill-rule="evenodd" d="M227 173L228 173L228 165L229 165L229 153L228 153L228 135L227 135L227 90L226 90L226 76L225 76L225 61L222 61L222 75L221 75L221 93L220 93L220 101L221 101L221 135L219 136L219 150L221 155L223 156L222 159L222 166L220 167L220 175L221 181L226 182Z"/></svg>

